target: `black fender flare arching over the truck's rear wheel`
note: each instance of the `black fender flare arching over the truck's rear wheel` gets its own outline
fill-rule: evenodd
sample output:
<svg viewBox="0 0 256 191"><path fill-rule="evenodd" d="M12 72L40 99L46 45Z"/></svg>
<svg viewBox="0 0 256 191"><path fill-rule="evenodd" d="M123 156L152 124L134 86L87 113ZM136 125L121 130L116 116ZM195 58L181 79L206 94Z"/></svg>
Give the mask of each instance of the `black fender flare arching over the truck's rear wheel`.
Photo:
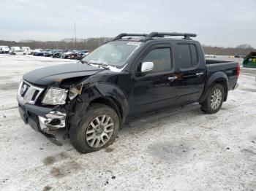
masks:
<svg viewBox="0 0 256 191"><path fill-rule="evenodd" d="M206 96L208 95L208 90L211 88L212 85L214 85L217 82L222 82L224 83L225 87L224 88L224 101L227 101L227 93L229 90L229 83L228 83L228 78L227 75L222 72L222 71L217 71L214 74L211 74L211 77L207 79L206 85L203 90L203 94L201 95L199 99L199 103L203 102L206 99Z"/></svg>

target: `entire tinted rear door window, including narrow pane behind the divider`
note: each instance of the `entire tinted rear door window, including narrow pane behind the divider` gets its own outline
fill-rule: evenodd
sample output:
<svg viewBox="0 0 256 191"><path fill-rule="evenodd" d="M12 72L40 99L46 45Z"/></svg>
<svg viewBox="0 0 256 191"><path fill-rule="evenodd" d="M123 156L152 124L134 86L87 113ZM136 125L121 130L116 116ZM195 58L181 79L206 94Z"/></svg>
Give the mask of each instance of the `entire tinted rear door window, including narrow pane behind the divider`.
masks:
<svg viewBox="0 0 256 191"><path fill-rule="evenodd" d="M181 69L191 69L198 63L195 44L178 44L179 65Z"/></svg>

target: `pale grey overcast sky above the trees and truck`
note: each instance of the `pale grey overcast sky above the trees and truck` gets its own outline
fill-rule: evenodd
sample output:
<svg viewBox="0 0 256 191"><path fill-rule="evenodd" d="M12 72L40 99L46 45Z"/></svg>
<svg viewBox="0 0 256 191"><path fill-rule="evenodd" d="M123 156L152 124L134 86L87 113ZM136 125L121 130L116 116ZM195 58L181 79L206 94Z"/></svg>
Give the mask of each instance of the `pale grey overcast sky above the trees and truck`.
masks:
<svg viewBox="0 0 256 191"><path fill-rule="evenodd" d="M190 32L202 44L256 47L256 0L0 0L0 39Z"/></svg>

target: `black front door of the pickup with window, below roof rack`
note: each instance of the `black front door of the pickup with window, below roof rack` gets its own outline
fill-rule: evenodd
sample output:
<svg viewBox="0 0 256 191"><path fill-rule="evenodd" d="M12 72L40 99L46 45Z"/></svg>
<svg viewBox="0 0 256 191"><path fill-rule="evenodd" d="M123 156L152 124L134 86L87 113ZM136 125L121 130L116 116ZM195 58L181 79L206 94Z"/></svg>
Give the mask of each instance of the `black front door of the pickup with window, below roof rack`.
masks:
<svg viewBox="0 0 256 191"><path fill-rule="evenodd" d="M141 73L144 62L153 62L154 69ZM150 112L175 106L178 98L175 67L170 44L152 46L135 66L132 80L132 113Z"/></svg>

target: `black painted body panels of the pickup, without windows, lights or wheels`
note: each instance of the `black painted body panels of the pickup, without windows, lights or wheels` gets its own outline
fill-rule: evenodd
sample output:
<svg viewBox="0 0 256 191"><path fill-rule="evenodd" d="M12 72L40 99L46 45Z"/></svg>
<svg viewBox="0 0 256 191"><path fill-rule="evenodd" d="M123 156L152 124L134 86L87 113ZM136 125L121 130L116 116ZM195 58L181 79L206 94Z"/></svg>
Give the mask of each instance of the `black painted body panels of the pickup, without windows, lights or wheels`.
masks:
<svg viewBox="0 0 256 191"><path fill-rule="evenodd" d="M125 39L119 39L125 40ZM135 41L135 39L126 39ZM197 65L194 68L180 69L177 44L195 44ZM138 66L143 57L155 47L170 47L172 69L165 72L140 74ZM201 102L215 82L225 87L225 101L228 90L236 86L238 63L225 61L205 61L200 43L191 39L152 39L148 40L129 58L122 71L110 71L86 63L70 63L31 71L23 76L31 84L42 87L66 87L81 85L83 91L65 106L48 106L67 112L67 123L77 125L81 116L92 102L112 106L124 122L127 117L156 111L165 107L178 107ZM202 75L196 75L202 73ZM169 80L168 77L178 77ZM56 79L61 79L60 81ZM43 96L43 93L42 93ZM42 114L39 98L36 109L26 108L33 114ZM47 110L48 111L48 110ZM49 112L49 111L48 111Z"/></svg>

